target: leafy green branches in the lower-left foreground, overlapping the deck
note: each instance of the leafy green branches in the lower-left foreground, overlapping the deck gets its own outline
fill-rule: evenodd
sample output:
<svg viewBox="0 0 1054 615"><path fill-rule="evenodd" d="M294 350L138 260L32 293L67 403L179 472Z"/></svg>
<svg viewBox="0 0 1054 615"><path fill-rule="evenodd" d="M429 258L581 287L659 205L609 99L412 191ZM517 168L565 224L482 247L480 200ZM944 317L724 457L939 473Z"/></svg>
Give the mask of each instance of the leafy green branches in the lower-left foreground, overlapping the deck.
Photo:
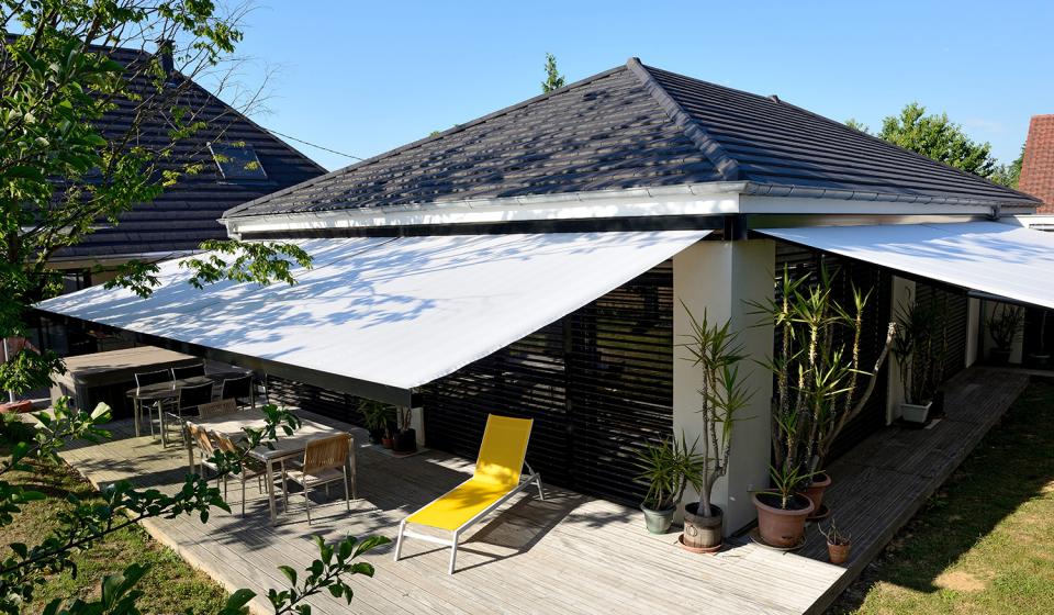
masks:
<svg viewBox="0 0 1054 615"><path fill-rule="evenodd" d="M273 446L279 432L287 435L299 426L299 420L288 411L273 405L264 406L266 425L260 429L246 428L234 451L216 451L212 461L221 472L237 472L246 461L248 451L258 446ZM43 492L26 489L7 479L14 472L32 472L31 462L58 461L58 450L70 439L99 441L109 437L101 425L110 420L109 409L100 405L86 413L69 409L61 400L54 414L34 415L40 422L31 437L15 437L10 458L0 466L0 527L11 525L24 514L25 507L46 496ZM8 418L15 423L18 418ZM7 425L10 432L12 425ZM96 499L83 500L76 493L67 494L68 507L55 515L55 527L35 546L11 543L11 555L0 562L0 612L20 613L33 601L34 592L54 574L69 571L77 573L75 555L96 548L105 537L126 529L146 518L175 518L198 515L208 521L212 508L229 512L220 490L209 487L209 481L198 474L187 474L182 489L166 494L155 489L137 491L127 481L117 481L103 489ZM355 574L373 575L373 567L356 561L362 554L389 543L386 537L371 537L358 541L354 537L336 544L326 544L315 538L319 557L306 569L302 582L296 572L287 566L280 567L290 585L271 590L268 600L274 613L311 613L304 601L322 591L349 602L354 596L347 578ZM97 600L76 599L64 604L63 599L52 600L45 607L48 615L134 615L139 613L137 603L145 595L137 586L149 567L131 563L122 572L109 574L102 580ZM239 590L218 611L220 615L247 613L247 604L256 596L249 590ZM190 612L190 611L188 611Z"/></svg>

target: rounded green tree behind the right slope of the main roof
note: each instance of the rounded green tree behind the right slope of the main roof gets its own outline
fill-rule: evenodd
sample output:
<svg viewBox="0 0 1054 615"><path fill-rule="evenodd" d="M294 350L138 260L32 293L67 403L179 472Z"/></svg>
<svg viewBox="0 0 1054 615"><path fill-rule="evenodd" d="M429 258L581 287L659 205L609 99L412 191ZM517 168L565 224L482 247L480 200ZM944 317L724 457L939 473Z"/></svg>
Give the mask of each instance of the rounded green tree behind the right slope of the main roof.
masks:
<svg viewBox="0 0 1054 615"><path fill-rule="evenodd" d="M868 133L867 126L856 120L846 120L845 125ZM875 136L985 179L997 171L990 144L971 139L946 113L927 115L926 107L918 102L906 104L899 115L885 118Z"/></svg>

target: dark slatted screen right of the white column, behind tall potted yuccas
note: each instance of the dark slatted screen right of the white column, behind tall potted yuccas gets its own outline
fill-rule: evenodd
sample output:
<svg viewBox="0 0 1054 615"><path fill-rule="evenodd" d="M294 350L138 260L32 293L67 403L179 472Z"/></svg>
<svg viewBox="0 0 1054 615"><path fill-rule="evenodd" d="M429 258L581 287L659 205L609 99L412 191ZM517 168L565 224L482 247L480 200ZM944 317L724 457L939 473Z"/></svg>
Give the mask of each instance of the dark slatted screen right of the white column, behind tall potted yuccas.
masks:
<svg viewBox="0 0 1054 615"><path fill-rule="evenodd" d="M833 255L821 254L808 248L793 246L784 243L776 243L776 294L778 299L780 279L783 276L784 266L786 266L792 277L800 277L806 273L816 276L820 264L825 264L828 271L840 271L833 289L834 299L842 305L852 305L853 287L866 290L873 288L871 298L867 301L866 312L864 314L864 326L866 327L861 338L860 359L864 369L870 369L878 358L883 345L886 342L886 332L889 325L889 275L881 268L865 262L857 262L848 259L841 259ZM778 337L778 336L777 336ZM780 346L780 339L775 340L776 348ZM884 383L887 381L887 366L883 366L878 374L878 385L867 400L867 405L861 412L860 416L851 421L842 429L838 440L831 450L832 457L838 457L849 450L853 445L881 429L886 424L886 396L887 391Z"/></svg>

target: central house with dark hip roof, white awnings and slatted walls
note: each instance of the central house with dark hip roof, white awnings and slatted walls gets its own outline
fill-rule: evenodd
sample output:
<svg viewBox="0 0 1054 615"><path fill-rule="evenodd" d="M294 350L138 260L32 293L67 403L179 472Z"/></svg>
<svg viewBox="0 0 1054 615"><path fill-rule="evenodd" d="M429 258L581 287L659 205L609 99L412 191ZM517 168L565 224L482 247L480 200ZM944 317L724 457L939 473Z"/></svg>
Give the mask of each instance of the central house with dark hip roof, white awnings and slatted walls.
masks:
<svg viewBox="0 0 1054 615"><path fill-rule="evenodd" d="M682 303L730 320L761 359L774 331L748 303L773 299L785 266L837 264L875 289L864 364L910 297L948 314L951 373L982 356L983 300L1054 306L1032 283L1054 237L1019 221L1039 204L776 96L631 58L227 211L231 236L314 255L294 287L198 293L169 265L148 300L88 289L38 308L251 367L272 400L350 422L359 396L412 406L427 446L467 457L487 413L530 416L547 481L633 501L633 451L699 432ZM772 379L744 371L754 420L717 497L729 532L767 484ZM896 418L883 378L843 449Z"/></svg>

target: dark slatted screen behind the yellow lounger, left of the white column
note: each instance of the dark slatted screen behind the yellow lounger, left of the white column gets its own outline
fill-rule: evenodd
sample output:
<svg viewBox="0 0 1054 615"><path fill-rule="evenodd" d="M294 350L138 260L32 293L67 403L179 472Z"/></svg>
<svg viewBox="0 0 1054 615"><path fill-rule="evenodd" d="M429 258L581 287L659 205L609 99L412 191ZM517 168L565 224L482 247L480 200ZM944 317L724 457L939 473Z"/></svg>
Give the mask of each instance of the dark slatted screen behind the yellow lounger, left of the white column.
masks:
<svg viewBox="0 0 1054 615"><path fill-rule="evenodd" d="M272 401L361 425L354 395L270 379ZM673 432L673 266L422 389L431 448L470 459L489 413L535 420L546 482L638 503L633 452Z"/></svg>

